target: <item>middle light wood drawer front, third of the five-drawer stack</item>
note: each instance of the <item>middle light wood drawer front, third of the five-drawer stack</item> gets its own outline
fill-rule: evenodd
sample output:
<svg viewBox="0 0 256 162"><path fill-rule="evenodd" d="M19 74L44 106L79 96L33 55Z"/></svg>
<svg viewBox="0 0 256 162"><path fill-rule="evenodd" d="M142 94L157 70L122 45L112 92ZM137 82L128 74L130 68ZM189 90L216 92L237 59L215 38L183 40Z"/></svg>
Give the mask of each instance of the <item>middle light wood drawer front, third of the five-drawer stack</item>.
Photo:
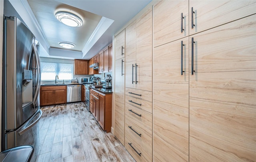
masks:
<svg viewBox="0 0 256 162"><path fill-rule="evenodd" d="M136 113L136 114L135 114ZM126 118L152 135L152 114L130 104L125 105ZM140 116L139 116L140 115Z"/></svg>

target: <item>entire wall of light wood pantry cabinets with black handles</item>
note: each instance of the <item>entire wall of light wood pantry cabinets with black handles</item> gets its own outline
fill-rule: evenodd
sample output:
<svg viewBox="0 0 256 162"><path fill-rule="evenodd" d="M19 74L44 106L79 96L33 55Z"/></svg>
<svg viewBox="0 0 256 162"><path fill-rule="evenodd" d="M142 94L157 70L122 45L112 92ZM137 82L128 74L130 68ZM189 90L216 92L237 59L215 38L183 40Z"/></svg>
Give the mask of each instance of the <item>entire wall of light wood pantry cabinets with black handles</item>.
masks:
<svg viewBox="0 0 256 162"><path fill-rule="evenodd" d="M256 1L150 5L125 26L125 148L137 162L255 162Z"/></svg>

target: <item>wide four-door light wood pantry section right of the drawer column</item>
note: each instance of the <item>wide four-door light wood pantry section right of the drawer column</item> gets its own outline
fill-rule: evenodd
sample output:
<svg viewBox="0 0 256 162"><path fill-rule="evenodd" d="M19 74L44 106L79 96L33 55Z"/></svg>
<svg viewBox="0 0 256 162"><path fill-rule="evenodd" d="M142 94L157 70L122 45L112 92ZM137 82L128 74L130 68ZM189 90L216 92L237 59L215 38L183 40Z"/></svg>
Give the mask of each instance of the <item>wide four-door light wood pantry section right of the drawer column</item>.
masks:
<svg viewBox="0 0 256 162"><path fill-rule="evenodd" d="M168 3L154 13L166 15ZM255 7L190 0L189 36L170 38L154 14L154 161L256 159Z"/></svg>

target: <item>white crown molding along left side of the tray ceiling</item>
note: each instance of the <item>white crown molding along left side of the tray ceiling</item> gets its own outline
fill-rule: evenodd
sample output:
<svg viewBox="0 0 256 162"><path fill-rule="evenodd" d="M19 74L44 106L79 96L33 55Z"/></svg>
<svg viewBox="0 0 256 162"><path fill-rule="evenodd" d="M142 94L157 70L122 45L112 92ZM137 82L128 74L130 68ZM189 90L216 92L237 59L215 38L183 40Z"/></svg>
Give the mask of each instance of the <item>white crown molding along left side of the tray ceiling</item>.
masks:
<svg viewBox="0 0 256 162"><path fill-rule="evenodd" d="M30 16L32 22L34 23L34 25L36 26L36 29L38 30L38 33L40 34L40 36L42 37L42 40L44 41L44 44L46 46L48 46L48 49L50 48L50 44L48 43L46 37L44 36L44 32L42 32L42 28L40 27L38 21L36 20L36 16L34 15L32 9L30 8L28 1L27 0L20 0L21 3L23 4L24 8L26 9L26 11L28 12L28 15Z"/></svg>

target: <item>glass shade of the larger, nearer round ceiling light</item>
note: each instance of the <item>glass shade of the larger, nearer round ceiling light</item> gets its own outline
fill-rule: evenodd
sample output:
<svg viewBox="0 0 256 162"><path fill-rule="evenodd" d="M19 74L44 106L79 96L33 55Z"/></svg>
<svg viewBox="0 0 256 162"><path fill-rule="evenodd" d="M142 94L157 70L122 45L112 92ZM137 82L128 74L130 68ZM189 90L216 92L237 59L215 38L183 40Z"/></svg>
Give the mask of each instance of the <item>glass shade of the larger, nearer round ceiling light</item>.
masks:
<svg viewBox="0 0 256 162"><path fill-rule="evenodd" d="M70 12L59 11L56 12L55 17L57 20L68 26L79 27L83 24L83 21L79 16Z"/></svg>

